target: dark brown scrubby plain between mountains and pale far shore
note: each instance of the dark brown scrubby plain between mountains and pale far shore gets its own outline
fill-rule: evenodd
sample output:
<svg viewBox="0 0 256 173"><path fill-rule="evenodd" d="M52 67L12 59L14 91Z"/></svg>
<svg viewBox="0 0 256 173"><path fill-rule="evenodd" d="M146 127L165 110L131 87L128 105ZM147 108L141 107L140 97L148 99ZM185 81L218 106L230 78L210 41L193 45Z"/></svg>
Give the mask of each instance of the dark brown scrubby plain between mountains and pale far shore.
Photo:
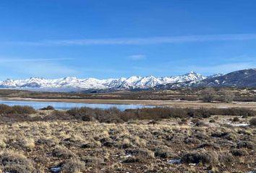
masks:
<svg viewBox="0 0 256 173"><path fill-rule="evenodd" d="M0 89L0 97L21 97L32 99L135 99L135 100L189 100L202 99L204 89L164 89L148 91L116 91L103 93L68 92L31 92L25 90ZM229 92L236 102L256 102L256 89L214 89L215 101L223 101L225 92Z"/></svg>

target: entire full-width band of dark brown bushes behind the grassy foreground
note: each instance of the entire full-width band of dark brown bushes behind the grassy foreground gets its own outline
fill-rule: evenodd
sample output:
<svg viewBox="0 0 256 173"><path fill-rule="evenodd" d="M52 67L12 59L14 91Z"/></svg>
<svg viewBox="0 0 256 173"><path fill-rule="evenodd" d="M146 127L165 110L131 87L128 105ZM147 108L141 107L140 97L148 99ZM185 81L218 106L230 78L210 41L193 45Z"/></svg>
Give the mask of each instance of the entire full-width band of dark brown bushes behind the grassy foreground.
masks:
<svg viewBox="0 0 256 173"><path fill-rule="evenodd" d="M0 105L0 120L8 121L41 121L41 120L83 120L98 121L100 123L124 123L133 120L161 120L179 117L182 124L186 124L188 117L207 118L211 115L236 115L236 116L255 116L255 110L246 108L200 108L184 109L174 107L153 107L136 110L118 110L116 107L110 109L93 109L90 107L72 108L68 111L54 110L51 114L43 116L30 116L35 113L32 107L9 107ZM17 116L19 115L19 116ZM197 124L198 125L198 124Z"/></svg>

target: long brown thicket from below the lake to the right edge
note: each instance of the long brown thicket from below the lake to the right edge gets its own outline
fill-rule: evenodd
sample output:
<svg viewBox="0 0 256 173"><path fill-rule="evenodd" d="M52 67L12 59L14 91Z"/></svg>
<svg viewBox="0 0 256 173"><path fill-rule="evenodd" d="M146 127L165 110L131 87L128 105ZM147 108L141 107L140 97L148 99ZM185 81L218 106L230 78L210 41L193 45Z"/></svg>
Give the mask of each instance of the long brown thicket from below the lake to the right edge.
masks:
<svg viewBox="0 0 256 173"><path fill-rule="evenodd" d="M153 107L136 110L118 110L116 107L110 109L93 109L90 107L72 108L67 111L67 115L77 120L93 121L98 120L101 123L124 123L132 120L160 120L171 117L182 118L182 123L187 122L188 117L206 118L211 115L255 115L254 110L244 108L176 108L176 107ZM152 122L153 124L154 122ZM193 122L195 123L195 122ZM150 123L151 124L151 123Z"/></svg>

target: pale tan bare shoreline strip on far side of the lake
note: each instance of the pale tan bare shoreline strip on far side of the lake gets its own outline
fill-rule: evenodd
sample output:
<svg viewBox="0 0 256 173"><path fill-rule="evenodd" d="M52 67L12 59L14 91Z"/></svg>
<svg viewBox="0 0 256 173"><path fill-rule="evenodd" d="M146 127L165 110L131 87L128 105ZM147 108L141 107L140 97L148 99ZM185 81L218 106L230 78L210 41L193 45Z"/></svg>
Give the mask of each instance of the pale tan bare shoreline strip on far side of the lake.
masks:
<svg viewBox="0 0 256 173"><path fill-rule="evenodd" d="M110 105L147 105L147 106L166 106L166 107L244 107L256 110L256 102L201 102L184 100L145 100L145 99L33 99L22 97L0 97L5 101L25 101L25 102L70 102L85 104L110 104Z"/></svg>

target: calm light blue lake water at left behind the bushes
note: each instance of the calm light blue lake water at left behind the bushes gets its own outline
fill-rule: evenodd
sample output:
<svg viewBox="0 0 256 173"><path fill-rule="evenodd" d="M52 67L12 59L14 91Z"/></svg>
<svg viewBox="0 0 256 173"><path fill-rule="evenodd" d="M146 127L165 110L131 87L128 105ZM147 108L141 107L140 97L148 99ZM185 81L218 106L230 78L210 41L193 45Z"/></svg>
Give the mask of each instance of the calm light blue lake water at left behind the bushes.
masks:
<svg viewBox="0 0 256 173"><path fill-rule="evenodd" d="M28 102L28 101L9 101L9 100L0 100L0 104L9 105L9 106L27 105L27 106L34 107L36 110L39 110L43 107L47 107L48 105L53 106L56 110L69 110L72 107L92 107L92 108L101 108L101 109L117 107L119 110L153 107L153 106L145 106L145 105L88 104L88 103L70 103L70 102Z"/></svg>

